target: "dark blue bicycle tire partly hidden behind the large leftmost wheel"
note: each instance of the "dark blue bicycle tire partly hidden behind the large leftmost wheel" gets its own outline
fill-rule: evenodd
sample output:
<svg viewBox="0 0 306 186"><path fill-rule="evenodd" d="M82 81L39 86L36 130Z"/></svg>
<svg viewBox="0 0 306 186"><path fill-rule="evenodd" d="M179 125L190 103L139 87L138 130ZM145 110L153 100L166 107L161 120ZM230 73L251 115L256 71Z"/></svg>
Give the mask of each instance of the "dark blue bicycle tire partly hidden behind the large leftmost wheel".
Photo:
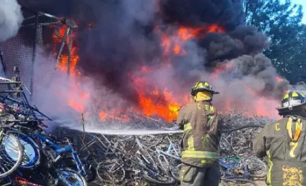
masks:
<svg viewBox="0 0 306 186"><path fill-rule="evenodd" d="M8 131L7 133L12 133L13 135L21 135L23 136L21 140L23 140L23 142L26 142L27 144L29 144L29 146L31 146L31 148L33 148L33 151L35 152L35 159L33 159L33 163L26 163L26 159L25 159L25 154L26 154L26 147L25 144L23 144L23 142L20 141L20 137L18 137L20 144L23 146L24 152L23 152L23 161L20 163L20 168L24 168L24 169L34 169L37 168L38 165L40 165L41 162L41 155L40 155L40 148L38 146L38 144L36 144L36 142L34 142L34 140L29 137L28 135L26 135L25 133L22 133L20 131ZM16 136L17 137L17 136ZM27 156L29 157L29 156Z"/></svg>

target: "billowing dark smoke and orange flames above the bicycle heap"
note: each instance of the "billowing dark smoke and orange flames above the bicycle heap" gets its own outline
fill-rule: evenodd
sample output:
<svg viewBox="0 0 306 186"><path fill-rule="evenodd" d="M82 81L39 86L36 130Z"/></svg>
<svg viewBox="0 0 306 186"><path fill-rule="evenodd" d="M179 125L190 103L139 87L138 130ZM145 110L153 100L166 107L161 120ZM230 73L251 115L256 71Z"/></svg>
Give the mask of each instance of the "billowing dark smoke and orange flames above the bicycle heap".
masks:
<svg viewBox="0 0 306 186"><path fill-rule="evenodd" d="M56 116L73 110L94 122L127 121L133 112L171 122L191 85L205 79L221 92L217 109L277 117L290 86L262 53L268 37L245 25L241 0L19 2L78 25L40 27L49 35L35 51L34 102ZM31 39L22 38L27 49ZM63 43L70 52L58 52Z"/></svg>

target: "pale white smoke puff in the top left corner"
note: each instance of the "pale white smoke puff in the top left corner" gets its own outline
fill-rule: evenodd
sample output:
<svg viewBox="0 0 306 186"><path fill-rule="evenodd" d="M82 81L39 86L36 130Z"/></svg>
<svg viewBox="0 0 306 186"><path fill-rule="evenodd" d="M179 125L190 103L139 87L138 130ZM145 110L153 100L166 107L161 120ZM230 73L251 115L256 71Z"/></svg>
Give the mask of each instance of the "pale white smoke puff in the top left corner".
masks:
<svg viewBox="0 0 306 186"><path fill-rule="evenodd" d="M0 0L0 42L16 36L23 14L16 0Z"/></svg>

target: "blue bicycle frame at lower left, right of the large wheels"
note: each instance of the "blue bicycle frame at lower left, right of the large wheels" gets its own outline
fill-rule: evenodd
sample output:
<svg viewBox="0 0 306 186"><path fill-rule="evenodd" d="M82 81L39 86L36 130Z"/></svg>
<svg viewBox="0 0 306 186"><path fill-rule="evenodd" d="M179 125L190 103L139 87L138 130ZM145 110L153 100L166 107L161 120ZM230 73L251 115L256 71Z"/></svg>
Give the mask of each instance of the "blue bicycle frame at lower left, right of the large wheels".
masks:
<svg viewBox="0 0 306 186"><path fill-rule="evenodd" d="M55 153L56 153L56 156L57 158L60 157L61 154L64 154L66 152L71 152L71 156L72 156L72 159L74 160L74 163L77 165L77 170L80 172L81 171L81 174L84 176L84 175L87 175L87 172L83 166L83 163L79 157L79 155L77 155L77 152L74 150L74 148L71 146L71 145L68 145L68 146L64 146L64 147L60 147L58 146L57 144L51 142L49 139L47 139L46 137L44 137L43 135L40 135L38 133L34 133L32 135L29 135L31 138L33 139L40 139L40 147L42 145L42 142L45 142L46 144L48 144L49 146L51 146L54 150L55 150ZM55 159L55 161L57 161L57 158Z"/></svg>

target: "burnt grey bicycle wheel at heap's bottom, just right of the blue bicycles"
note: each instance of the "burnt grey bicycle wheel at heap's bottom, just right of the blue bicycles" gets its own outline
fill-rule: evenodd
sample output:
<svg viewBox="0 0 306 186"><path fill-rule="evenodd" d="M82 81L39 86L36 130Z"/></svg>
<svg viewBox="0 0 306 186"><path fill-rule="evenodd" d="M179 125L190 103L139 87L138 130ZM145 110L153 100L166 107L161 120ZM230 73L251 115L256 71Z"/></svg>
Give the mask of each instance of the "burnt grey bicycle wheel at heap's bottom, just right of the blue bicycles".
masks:
<svg viewBox="0 0 306 186"><path fill-rule="evenodd" d="M97 174L103 183L122 183L126 176L123 163L102 161L97 166Z"/></svg>

